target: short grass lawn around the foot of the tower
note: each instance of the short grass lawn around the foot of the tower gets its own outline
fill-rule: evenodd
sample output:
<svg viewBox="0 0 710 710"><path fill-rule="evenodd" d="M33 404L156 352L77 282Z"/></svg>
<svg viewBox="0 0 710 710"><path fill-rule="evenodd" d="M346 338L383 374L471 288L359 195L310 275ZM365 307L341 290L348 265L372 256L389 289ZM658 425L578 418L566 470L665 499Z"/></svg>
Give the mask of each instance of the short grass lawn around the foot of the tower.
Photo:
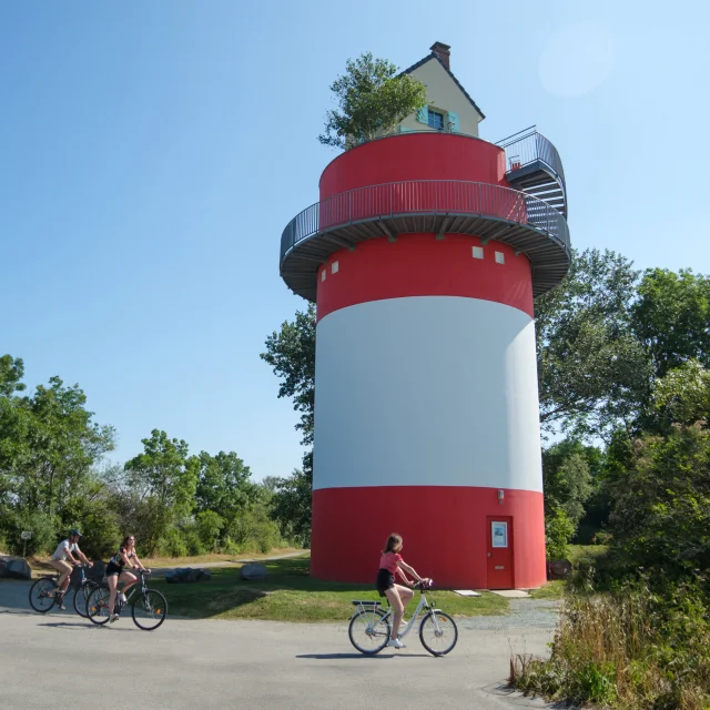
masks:
<svg viewBox="0 0 710 710"><path fill-rule="evenodd" d="M353 612L352 599L379 599L372 585L313 579L308 565L307 556L267 561L268 579L263 582L240 580L235 566L212 569L207 582L168 585L156 578L150 580L150 587L165 595L170 613L193 619L346 621ZM434 590L429 597L452 616L497 616L508 611L507 599L488 592L467 598ZM414 609L416 601L415 597L408 608Z"/></svg>

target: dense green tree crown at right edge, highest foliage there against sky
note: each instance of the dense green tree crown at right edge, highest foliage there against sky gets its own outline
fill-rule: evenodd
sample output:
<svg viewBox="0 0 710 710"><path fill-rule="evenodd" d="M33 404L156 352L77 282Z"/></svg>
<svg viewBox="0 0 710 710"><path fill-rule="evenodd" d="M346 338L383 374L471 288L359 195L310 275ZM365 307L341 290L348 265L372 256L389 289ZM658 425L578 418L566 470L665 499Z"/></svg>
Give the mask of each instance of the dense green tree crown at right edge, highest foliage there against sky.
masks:
<svg viewBox="0 0 710 710"><path fill-rule="evenodd" d="M646 272L632 308L633 329L652 362L653 375L689 359L710 366L710 277L690 270Z"/></svg>

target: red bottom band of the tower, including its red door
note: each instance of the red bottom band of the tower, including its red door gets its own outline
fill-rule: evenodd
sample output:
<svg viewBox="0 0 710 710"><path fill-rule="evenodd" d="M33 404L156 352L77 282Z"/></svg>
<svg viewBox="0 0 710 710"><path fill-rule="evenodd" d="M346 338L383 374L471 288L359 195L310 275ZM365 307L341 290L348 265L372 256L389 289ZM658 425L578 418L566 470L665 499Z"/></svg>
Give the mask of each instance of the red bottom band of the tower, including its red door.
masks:
<svg viewBox="0 0 710 710"><path fill-rule="evenodd" d="M464 486L313 491L311 574L371 584L387 536L438 588L526 589L546 581L542 494Z"/></svg>

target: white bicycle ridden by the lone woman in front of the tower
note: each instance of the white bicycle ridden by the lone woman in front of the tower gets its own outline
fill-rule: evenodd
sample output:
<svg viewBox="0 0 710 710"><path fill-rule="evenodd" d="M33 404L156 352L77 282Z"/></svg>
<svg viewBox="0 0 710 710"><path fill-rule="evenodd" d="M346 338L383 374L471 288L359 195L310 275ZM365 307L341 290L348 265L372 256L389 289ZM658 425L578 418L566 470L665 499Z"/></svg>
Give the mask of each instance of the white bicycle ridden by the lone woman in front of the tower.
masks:
<svg viewBox="0 0 710 710"><path fill-rule="evenodd" d="M422 646L433 656L445 656L456 646L456 641L458 641L458 628L448 613L445 613L440 609L435 609L427 600L425 587L432 587L432 585L433 582L429 580L428 585L418 581L413 586L413 589L418 589L422 592L422 598L404 631L399 630L397 636L399 639L404 639L416 626L419 613L424 609L426 613L418 627L419 641L422 641ZM384 597L385 595L383 594L381 596ZM381 608L382 602L379 601L353 600L353 605L355 605L356 610L353 612L347 628L351 643L361 651L361 653L374 656L387 646L392 636L390 619L394 619L394 612L389 600L387 600L387 611ZM452 640L447 641L447 638L452 635ZM366 646L366 643L371 646Z"/></svg>

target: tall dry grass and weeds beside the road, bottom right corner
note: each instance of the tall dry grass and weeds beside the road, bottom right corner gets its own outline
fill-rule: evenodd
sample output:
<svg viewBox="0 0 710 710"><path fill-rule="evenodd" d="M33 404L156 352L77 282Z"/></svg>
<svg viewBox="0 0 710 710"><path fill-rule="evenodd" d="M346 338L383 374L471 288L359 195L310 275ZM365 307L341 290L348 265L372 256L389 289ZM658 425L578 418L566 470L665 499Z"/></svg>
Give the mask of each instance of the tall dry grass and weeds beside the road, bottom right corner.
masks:
<svg viewBox="0 0 710 710"><path fill-rule="evenodd" d="M549 660L516 656L510 682L552 700L629 710L710 709L710 604L702 585L637 584L565 596Z"/></svg>

